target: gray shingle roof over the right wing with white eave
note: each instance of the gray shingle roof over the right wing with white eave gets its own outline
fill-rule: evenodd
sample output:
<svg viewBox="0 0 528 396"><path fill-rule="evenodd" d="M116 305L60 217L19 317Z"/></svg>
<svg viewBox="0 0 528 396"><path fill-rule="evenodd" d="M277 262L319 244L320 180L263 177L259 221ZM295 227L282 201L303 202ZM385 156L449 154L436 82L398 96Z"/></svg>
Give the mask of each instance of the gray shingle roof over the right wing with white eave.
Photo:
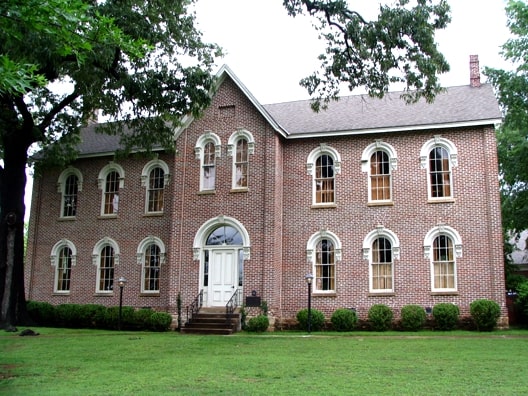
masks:
<svg viewBox="0 0 528 396"><path fill-rule="evenodd" d="M263 107L291 137L494 124L502 117L489 84L448 88L431 104L406 104L400 96L346 96L319 113L311 110L309 100Z"/></svg>

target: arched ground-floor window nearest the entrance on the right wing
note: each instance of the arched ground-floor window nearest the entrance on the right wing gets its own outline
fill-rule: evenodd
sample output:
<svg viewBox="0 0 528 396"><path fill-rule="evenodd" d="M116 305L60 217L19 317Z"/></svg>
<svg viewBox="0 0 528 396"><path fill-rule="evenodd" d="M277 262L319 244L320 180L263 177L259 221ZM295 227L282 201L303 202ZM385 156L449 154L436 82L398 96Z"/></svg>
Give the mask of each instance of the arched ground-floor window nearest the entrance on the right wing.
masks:
<svg viewBox="0 0 528 396"><path fill-rule="evenodd" d="M336 266L341 261L341 241L330 231L313 234L306 246L307 260L312 266L314 293L336 292Z"/></svg>

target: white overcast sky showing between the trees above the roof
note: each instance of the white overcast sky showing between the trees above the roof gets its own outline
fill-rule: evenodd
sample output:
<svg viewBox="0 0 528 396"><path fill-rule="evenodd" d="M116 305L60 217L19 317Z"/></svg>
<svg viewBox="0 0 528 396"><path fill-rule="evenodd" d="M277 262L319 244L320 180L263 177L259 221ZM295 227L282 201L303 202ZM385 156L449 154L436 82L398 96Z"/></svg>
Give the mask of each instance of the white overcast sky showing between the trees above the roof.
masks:
<svg viewBox="0 0 528 396"><path fill-rule="evenodd" d="M378 1L351 0L351 8L367 18L377 14ZM440 51L451 71L443 86L469 84L469 55L479 55L480 66L508 68L500 46L508 39L505 0L450 0L452 22L437 34ZM308 99L299 81L319 67L324 43L310 19L290 17L282 0L198 0L198 29L206 42L215 42L227 64L262 104ZM484 81L484 77L483 80ZM349 92L343 91L342 95ZM26 189L29 217L32 180Z"/></svg>

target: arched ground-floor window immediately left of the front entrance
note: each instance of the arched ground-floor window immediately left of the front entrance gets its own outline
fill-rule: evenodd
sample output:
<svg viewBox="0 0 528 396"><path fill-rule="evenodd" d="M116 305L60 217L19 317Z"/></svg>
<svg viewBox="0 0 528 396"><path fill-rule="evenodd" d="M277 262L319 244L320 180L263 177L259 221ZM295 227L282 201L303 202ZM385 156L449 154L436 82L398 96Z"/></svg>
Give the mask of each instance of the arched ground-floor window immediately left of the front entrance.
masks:
<svg viewBox="0 0 528 396"><path fill-rule="evenodd" d="M165 245L159 238L145 238L139 244L137 258L141 264L141 292L159 293Z"/></svg>

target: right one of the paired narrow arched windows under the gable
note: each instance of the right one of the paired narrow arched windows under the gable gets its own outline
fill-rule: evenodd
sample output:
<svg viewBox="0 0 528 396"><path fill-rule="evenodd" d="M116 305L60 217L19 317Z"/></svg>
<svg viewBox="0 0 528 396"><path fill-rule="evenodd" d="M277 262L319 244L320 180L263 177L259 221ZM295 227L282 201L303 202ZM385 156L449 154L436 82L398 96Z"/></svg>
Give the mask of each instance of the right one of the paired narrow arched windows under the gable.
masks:
<svg viewBox="0 0 528 396"><path fill-rule="evenodd" d="M249 156L254 153L255 142L251 132L239 129L233 133L227 143L227 155L233 157L232 189L248 188Z"/></svg>

